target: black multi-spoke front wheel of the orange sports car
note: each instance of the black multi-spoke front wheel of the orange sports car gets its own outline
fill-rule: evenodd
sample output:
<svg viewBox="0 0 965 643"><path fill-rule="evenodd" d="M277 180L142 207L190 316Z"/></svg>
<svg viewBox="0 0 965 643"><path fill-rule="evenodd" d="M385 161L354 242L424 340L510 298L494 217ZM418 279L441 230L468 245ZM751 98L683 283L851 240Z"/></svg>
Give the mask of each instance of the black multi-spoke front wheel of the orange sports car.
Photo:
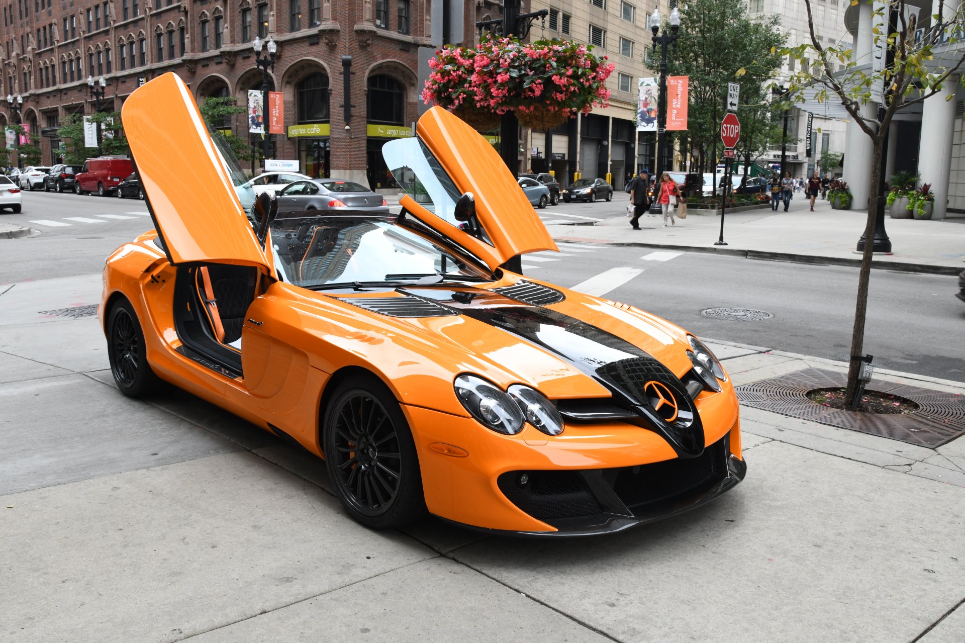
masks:
<svg viewBox="0 0 965 643"><path fill-rule="evenodd" d="M348 377L324 413L325 461L349 516L375 529L403 527L425 516L415 442L385 384L373 376Z"/></svg>

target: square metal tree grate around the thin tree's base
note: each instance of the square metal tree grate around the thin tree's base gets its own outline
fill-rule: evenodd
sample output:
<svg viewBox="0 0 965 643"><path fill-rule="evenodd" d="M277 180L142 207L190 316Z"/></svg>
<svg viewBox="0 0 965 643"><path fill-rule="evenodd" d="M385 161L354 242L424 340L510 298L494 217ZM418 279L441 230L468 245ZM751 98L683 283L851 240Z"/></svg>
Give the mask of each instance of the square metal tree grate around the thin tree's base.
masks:
<svg viewBox="0 0 965 643"><path fill-rule="evenodd" d="M902 415L839 410L818 405L806 397L808 391L815 388L841 387L846 383L846 374L805 369L738 386L736 391L740 404L744 406L888 437L929 449L951 442L965 433L965 396L954 393L872 379L868 384L869 390L896 395L919 405L918 410Z"/></svg>

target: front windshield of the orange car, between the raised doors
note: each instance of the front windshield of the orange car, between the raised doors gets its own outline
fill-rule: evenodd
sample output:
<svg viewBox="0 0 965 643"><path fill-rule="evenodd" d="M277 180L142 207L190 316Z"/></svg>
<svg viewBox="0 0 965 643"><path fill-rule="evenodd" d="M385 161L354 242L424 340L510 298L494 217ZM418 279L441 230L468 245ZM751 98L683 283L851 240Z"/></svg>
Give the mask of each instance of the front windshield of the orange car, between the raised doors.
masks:
<svg viewBox="0 0 965 643"><path fill-rule="evenodd" d="M424 277L489 281L491 275L400 226L393 217L311 216L271 223L282 278L320 290L337 284L402 282Z"/></svg>

